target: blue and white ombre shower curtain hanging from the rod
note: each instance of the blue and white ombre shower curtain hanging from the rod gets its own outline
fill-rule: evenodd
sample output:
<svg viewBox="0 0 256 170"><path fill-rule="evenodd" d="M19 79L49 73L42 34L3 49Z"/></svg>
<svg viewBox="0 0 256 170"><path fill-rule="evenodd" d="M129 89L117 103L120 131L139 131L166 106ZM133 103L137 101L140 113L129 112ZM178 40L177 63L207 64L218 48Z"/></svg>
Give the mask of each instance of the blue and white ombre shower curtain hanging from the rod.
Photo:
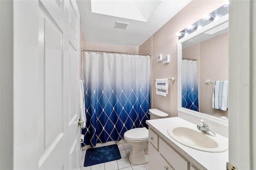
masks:
<svg viewBox="0 0 256 170"><path fill-rule="evenodd" d="M84 145L94 147L146 127L150 108L150 57L84 52L82 80L86 109Z"/></svg>

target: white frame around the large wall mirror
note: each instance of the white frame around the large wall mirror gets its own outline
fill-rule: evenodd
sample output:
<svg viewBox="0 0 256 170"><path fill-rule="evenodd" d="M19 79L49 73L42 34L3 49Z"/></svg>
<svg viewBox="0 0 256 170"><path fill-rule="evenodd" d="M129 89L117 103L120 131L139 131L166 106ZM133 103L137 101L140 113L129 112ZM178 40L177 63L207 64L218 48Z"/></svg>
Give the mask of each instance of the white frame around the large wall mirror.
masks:
<svg viewBox="0 0 256 170"><path fill-rule="evenodd" d="M213 116L213 115L208 115L206 113L200 113L197 111L192 111L190 109L186 109L182 107L182 83L181 83L181 73L182 73L182 43L186 42L187 40L190 40L191 38L194 38L220 24L223 24L224 22L228 22L228 14L225 16L222 16L220 19L211 22L210 24L204 26L200 30L196 30L195 32L192 32L188 36L184 36L177 42L177 52L178 52L178 112L186 113L195 117L199 117L201 119L205 119L208 121L212 121L214 123L217 123L219 125L228 127L228 121L224 119L220 119L219 117Z"/></svg>

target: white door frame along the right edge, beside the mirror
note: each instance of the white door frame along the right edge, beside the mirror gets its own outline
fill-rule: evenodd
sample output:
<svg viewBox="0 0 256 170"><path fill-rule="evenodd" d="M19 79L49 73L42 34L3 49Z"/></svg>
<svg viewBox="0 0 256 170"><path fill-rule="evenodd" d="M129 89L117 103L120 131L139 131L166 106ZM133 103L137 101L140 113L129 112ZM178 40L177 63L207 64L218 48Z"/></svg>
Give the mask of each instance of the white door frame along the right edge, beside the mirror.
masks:
<svg viewBox="0 0 256 170"><path fill-rule="evenodd" d="M229 162L256 169L256 2L231 0L229 20Z"/></svg>

